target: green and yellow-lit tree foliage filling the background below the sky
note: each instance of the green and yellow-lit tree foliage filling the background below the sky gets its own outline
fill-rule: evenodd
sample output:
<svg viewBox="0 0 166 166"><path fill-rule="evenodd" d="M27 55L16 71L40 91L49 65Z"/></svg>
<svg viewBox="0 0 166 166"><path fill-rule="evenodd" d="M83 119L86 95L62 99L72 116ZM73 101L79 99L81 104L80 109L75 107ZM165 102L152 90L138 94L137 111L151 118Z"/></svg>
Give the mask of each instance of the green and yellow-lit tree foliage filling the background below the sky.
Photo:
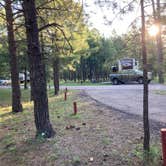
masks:
<svg viewBox="0 0 166 166"><path fill-rule="evenodd" d="M18 1L14 1L14 3L17 3L18 7L21 8ZM131 7L130 5L132 3L128 4L127 1L125 1L125 3L127 5L125 8L126 12L130 11L128 7ZM123 3L115 2L113 4L122 5ZM114 5L112 6L113 8L116 6ZM105 39L95 28L89 29L86 25L84 11L79 1L37 0L36 6L38 8L39 29L52 24L52 26L48 26L40 31L40 44L43 46L41 50L46 64L48 80L52 78L52 63L57 57L60 58L61 77L72 80L92 80L92 78L96 80L108 79L111 66L114 65L119 58L132 57L139 60L139 62L142 61L141 33L136 23L132 24L131 30L125 35L119 36L114 32L110 38ZM162 20L164 20L164 9L163 5L161 5ZM118 8L116 10L118 10ZM0 12L4 14L4 9L0 8ZM122 14L121 12L123 13L124 11L120 11L120 15ZM25 67L28 69L27 46L25 29L20 26L24 23L24 18L23 16L17 16L18 15L15 16L16 25L14 26L16 28L15 36L17 41L19 69L22 71ZM153 19L149 17L149 20ZM149 22L152 23L152 21L149 20L147 24L149 24ZM4 19L0 18L0 30L2 31L0 41L0 76L6 77L10 74L4 25ZM155 38L151 38L148 35L146 37L148 63L151 64L149 70L153 71L153 74L156 75L157 50ZM162 38L163 41L165 41L164 35ZM142 67L141 63L140 66ZM166 69L166 66L164 66L164 69Z"/></svg>

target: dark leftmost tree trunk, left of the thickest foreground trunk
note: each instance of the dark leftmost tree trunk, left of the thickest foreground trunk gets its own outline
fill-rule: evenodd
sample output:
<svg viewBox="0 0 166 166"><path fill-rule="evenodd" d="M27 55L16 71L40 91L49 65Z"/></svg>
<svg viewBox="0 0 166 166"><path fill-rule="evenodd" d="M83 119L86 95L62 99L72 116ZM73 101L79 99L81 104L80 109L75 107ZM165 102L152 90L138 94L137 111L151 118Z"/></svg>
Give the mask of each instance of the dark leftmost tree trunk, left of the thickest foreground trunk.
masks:
<svg viewBox="0 0 166 166"><path fill-rule="evenodd" d="M13 30L13 11L11 7L11 0L5 1L6 21L7 21L7 32L8 32L8 47L10 54L10 70L11 70L11 81L12 81L12 112L22 112L21 105L21 91L19 85L19 73L17 65L16 55L16 43Z"/></svg>

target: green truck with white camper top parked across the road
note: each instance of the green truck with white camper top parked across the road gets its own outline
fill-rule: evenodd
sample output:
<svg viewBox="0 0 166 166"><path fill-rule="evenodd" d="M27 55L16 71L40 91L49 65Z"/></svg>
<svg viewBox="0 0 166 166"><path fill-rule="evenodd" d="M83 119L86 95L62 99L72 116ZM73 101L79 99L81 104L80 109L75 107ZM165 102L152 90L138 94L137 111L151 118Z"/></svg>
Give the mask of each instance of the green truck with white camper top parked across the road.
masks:
<svg viewBox="0 0 166 166"><path fill-rule="evenodd" d="M143 71L138 69L138 62L133 58L125 58L118 61L118 65L112 67L109 75L113 85L136 81L143 84ZM148 72L148 82L152 80L152 73Z"/></svg>

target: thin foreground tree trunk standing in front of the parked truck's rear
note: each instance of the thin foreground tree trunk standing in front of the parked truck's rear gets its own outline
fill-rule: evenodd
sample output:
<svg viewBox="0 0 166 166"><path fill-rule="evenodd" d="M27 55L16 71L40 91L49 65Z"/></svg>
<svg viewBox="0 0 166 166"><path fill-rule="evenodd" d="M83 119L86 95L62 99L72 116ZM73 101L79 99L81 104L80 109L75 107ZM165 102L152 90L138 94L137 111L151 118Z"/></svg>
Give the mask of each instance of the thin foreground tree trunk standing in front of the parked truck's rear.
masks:
<svg viewBox="0 0 166 166"><path fill-rule="evenodd" d="M144 93L143 93L143 123L144 123L144 151L149 152L149 117L148 117L148 78L147 78L147 52L145 42L145 15L144 15L144 0L141 0L141 20L142 20L142 58L143 58L143 78L144 78Z"/></svg>

